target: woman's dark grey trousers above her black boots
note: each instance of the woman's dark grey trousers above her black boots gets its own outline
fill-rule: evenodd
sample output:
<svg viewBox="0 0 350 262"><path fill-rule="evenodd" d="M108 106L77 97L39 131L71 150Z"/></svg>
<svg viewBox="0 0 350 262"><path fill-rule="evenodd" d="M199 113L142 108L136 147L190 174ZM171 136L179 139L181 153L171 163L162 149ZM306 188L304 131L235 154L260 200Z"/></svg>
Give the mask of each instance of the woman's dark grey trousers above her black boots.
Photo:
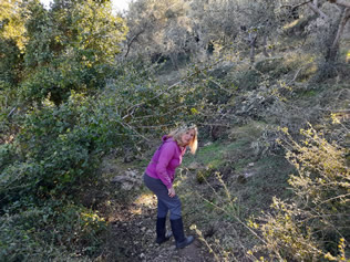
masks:
<svg viewBox="0 0 350 262"><path fill-rule="evenodd" d="M167 195L167 188L161 179L144 175L144 182L146 187L157 196L157 217L165 218L167 212L171 211L171 220L179 219L181 216L181 201L177 196L171 198Z"/></svg>

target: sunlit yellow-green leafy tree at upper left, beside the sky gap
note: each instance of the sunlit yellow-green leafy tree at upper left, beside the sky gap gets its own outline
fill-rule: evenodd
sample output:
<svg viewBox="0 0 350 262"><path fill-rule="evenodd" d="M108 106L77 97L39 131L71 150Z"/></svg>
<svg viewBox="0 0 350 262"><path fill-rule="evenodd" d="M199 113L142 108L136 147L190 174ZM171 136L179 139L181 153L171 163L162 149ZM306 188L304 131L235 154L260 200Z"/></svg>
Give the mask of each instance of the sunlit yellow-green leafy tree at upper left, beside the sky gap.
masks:
<svg viewBox="0 0 350 262"><path fill-rule="evenodd" d="M109 1L55 1L49 11L28 4L23 99L45 97L60 105L70 92L95 92L105 84L124 39L124 21Z"/></svg>

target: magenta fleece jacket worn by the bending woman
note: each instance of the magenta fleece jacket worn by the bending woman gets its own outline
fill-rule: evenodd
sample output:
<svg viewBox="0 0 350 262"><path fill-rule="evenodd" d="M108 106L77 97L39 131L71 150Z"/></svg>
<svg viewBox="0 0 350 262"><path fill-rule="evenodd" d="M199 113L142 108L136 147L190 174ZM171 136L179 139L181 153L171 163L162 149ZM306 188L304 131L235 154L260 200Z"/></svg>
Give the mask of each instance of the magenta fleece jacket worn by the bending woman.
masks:
<svg viewBox="0 0 350 262"><path fill-rule="evenodd" d="M175 169L181 165L186 148L181 150L177 143L167 136L163 136L163 144L155 151L146 168L150 177L161 179L166 188L173 187Z"/></svg>

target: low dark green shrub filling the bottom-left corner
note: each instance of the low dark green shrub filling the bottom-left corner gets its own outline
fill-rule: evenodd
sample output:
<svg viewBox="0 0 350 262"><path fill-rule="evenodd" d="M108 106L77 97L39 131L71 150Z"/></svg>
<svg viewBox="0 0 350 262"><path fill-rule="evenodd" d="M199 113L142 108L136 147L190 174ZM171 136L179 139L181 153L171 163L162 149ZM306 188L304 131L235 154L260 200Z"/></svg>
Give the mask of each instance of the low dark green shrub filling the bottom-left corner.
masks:
<svg viewBox="0 0 350 262"><path fill-rule="evenodd" d="M62 201L10 209L0 218L0 255L6 261L79 260L100 249L105 229L92 210Z"/></svg>

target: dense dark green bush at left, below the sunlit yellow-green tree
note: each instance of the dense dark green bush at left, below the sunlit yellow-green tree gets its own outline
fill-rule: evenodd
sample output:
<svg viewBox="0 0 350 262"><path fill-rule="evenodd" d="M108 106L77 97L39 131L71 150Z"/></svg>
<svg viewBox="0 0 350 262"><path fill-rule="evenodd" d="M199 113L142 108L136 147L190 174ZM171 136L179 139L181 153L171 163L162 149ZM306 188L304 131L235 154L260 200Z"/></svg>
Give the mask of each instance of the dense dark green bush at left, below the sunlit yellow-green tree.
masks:
<svg viewBox="0 0 350 262"><path fill-rule="evenodd" d="M12 165L2 167L2 202L23 196L72 196L92 179L101 155L121 143L115 133L122 127L105 109L93 98L72 95L59 107L48 104L28 112L14 144L1 146L13 148L16 156Z"/></svg>

